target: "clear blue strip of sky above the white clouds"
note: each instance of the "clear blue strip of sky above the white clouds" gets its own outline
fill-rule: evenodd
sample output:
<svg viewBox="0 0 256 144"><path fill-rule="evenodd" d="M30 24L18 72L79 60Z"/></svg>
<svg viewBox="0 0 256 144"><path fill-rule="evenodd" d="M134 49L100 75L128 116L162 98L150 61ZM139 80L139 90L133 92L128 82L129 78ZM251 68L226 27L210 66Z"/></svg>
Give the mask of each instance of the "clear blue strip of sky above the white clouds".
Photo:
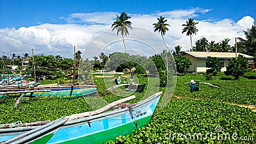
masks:
<svg viewBox="0 0 256 144"><path fill-rule="evenodd" d="M36 26L42 23L64 24L66 17L71 13L92 12L127 12L127 13L154 13L170 10L186 10L189 8L210 9L211 12L196 17L204 19L232 19L239 20L246 15L256 18L255 0L182 0L182 1L12 1L0 2L0 28L19 28L22 26ZM255 24L255 22L254 22Z"/></svg>

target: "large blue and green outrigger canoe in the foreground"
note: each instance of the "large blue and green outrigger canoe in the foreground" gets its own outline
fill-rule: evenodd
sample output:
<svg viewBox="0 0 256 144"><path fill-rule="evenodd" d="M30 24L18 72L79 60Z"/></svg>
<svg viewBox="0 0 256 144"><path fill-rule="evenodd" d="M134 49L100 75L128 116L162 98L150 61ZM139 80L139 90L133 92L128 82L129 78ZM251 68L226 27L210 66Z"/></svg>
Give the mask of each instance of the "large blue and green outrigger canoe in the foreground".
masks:
<svg viewBox="0 0 256 144"><path fill-rule="evenodd" d="M157 92L136 104L122 104L134 99L133 95L96 111L65 116L44 125L0 129L0 143L104 143L115 140L116 136L131 134L134 129L147 125L161 94Z"/></svg>

